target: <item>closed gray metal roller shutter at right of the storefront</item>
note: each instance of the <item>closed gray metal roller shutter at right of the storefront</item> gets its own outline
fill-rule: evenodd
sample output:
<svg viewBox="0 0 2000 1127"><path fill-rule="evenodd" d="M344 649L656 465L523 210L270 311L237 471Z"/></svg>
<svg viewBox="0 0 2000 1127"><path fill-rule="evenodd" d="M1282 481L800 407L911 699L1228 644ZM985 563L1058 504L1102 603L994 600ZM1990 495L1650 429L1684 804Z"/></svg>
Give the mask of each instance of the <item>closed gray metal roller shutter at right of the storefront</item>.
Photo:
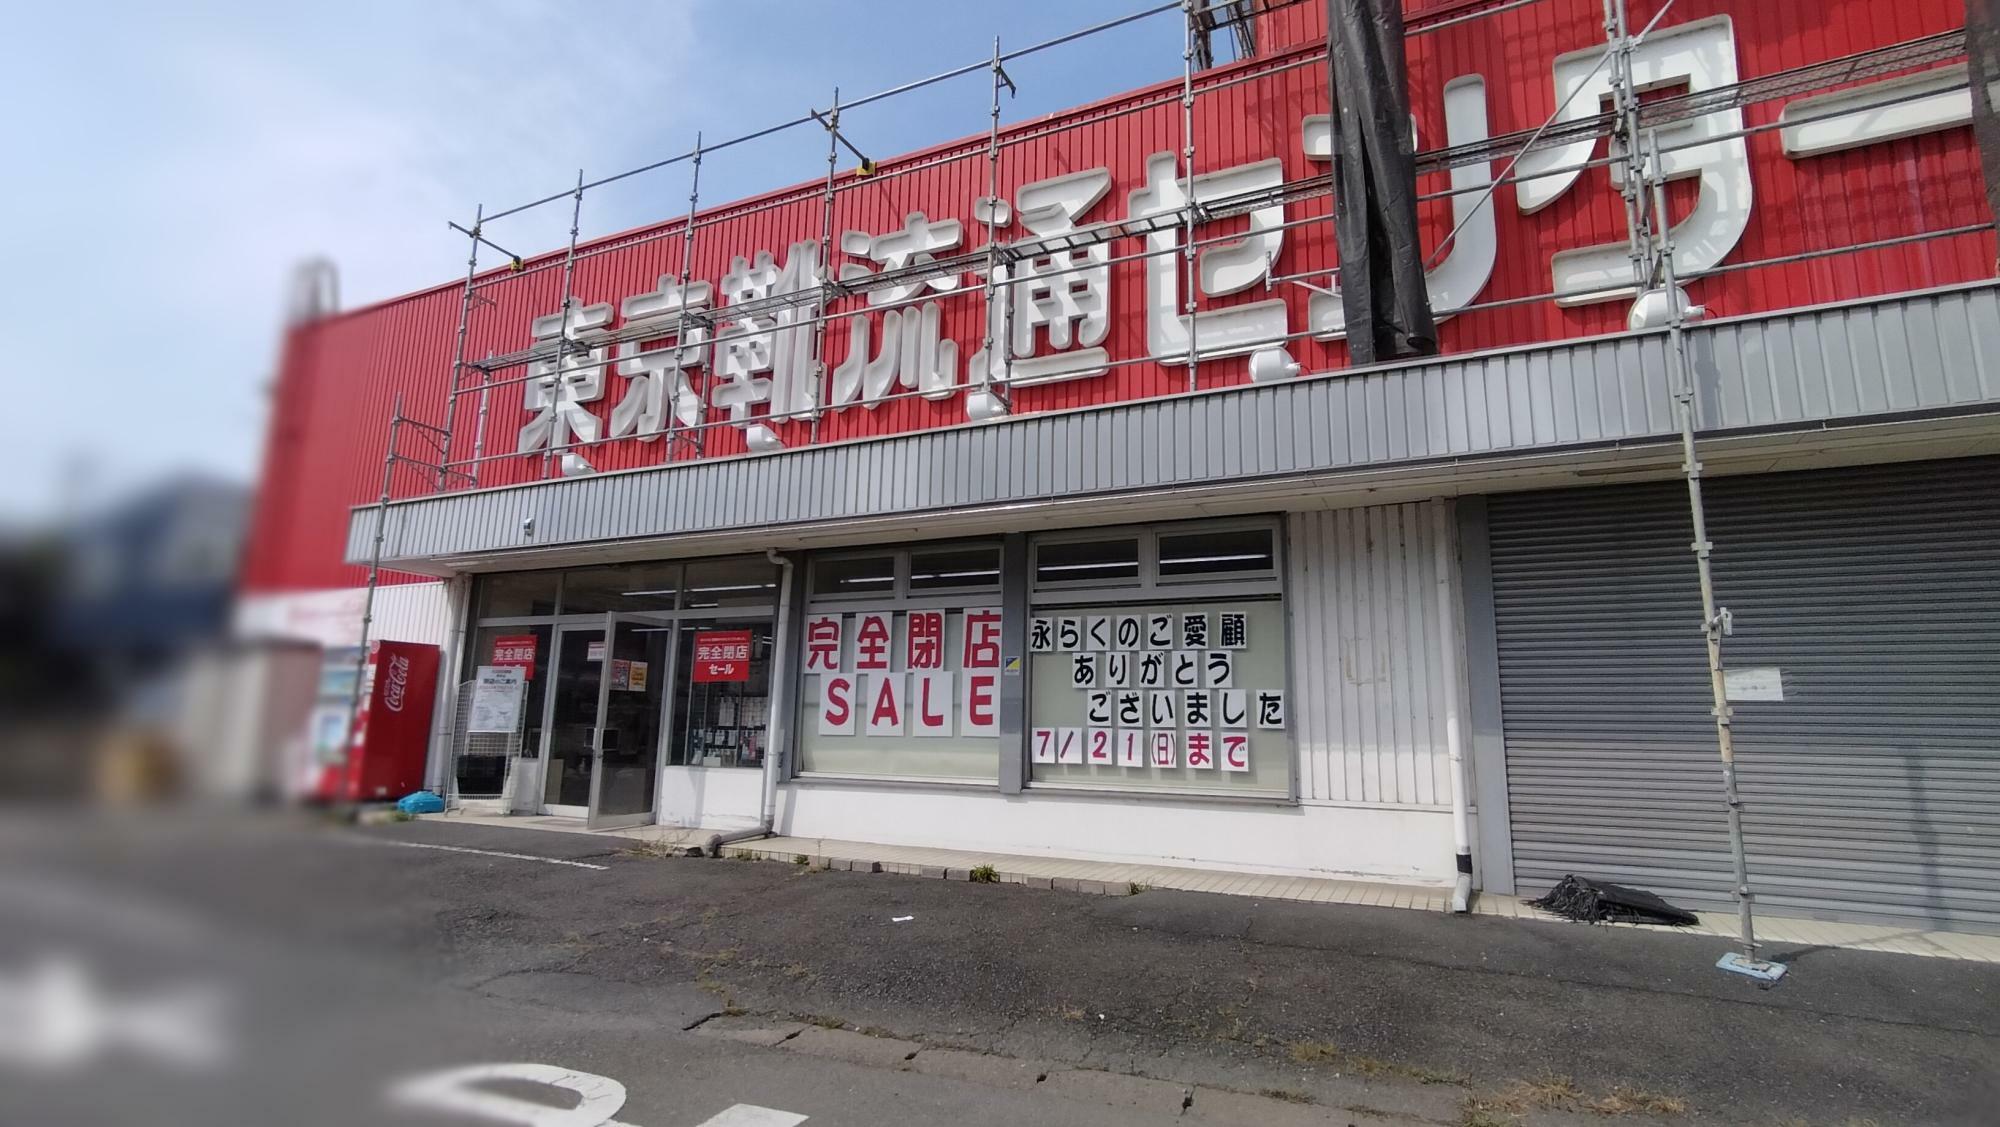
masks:
<svg viewBox="0 0 2000 1127"><path fill-rule="evenodd" d="M1514 869L1730 903L1680 482L1492 500ZM2000 931L2000 460L1712 478L1758 905Z"/></svg>

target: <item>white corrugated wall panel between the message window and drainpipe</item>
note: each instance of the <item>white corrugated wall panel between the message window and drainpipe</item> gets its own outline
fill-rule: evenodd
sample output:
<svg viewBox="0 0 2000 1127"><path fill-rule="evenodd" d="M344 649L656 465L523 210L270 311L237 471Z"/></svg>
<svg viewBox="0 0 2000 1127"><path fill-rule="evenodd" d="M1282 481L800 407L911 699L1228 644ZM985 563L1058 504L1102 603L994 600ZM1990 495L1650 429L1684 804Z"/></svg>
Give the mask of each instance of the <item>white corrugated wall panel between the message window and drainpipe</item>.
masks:
<svg viewBox="0 0 2000 1127"><path fill-rule="evenodd" d="M1436 504L1292 516L1286 599L1304 801L1452 801Z"/></svg>

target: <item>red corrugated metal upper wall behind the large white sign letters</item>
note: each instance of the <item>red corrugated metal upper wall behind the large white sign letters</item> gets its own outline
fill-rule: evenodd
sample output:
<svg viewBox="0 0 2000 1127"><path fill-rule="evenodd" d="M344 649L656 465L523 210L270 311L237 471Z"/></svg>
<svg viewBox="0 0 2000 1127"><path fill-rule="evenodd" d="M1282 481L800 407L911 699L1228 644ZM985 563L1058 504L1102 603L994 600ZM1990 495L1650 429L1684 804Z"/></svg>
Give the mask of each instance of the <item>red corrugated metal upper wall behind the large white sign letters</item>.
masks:
<svg viewBox="0 0 2000 1127"><path fill-rule="evenodd" d="M1412 26L1476 8L1466 0L1410 0ZM1634 0L1634 24L1656 10L1654 0ZM1728 14L1736 26L1742 78L1770 74L1872 46L1910 40L1956 28L1964 22L1958 0L1828 0L1820 4L1772 4L1750 0L1682 0L1668 26L1710 14ZM1300 122L1324 112L1324 64L1298 66L1304 52L1324 38L1324 10L1316 2L1274 8L1260 16L1264 58L1218 68L1198 84L1228 84L1204 92L1194 110L1198 172L1212 172L1254 160L1280 158L1286 180L1314 168L1300 152ZM1554 56L1600 44L1600 0L1542 0L1494 12L1474 22L1446 26L1410 40L1412 110L1420 146L1444 144L1442 88L1452 78L1486 78L1488 116L1494 134L1532 130L1554 110ZM1290 44L1290 52L1280 50ZM1234 82L1258 74L1248 82ZM1150 154L1174 154L1182 146L1180 84L1140 90L1066 114L1008 130L1012 142L1002 156L1002 196L1014 198L1022 184L1108 168L1112 190L1086 220L1126 216L1126 198L1144 184ZM1780 104L1750 106L1746 124L1772 122ZM1070 126L1070 128L1058 128ZM1602 146L1600 146L1602 152ZM1844 154L1788 160L1774 132L1750 138L1754 218L1730 262L1754 262L1818 248L1870 242L1890 236L1984 222L1978 154L1970 130L1926 134L1876 144ZM714 160L726 160L718 154ZM1446 188L1442 174L1428 176L1422 192ZM1672 208L1692 204L1692 184L1676 184ZM940 146L924 154L886 162L868 180L842 180L832 230L872 234L900 228L904 214L924 212L932 220L956 218L964 224L962 250L984 246L984 230L972 220L972 202L986 194L984 136ZM1294 204L1288 220L1326 216L1328 200ZM1450 204L1422 204L1430 240L1450 232ZM1242 230L1248 220L1202 228L1200 238ZM822 226L820 184L776 192L702 216L696 228L694 278L720 284L732 256L770 250L784 260L792 242L818 240ZM1546 210L1522 216L1512 188L1498 192L1500 260L1480 302L1524 298L1550 290L1550 258L1558 250L1624 238L1624 208L1602 170L1590 170L1564 198ZM1016 228L1018 238L1018 228ZM578 262L574 292L586 302L618 302L652 290L662 274L678 274L682 240L678 224L628 232L604 240ZM1114 256L1140 250L1138 240L1114 244ZM840 258L836 256L836 262ZM1334 266L1330 224L1292 228L1284 234L1280 274ZM1846 254L1742 270L1706 278L1690 286L1714 316L1790 308L1842 298L1860 298L1990 276L1994 242L1990 234L1930 240L1888 250ZM970 280L968 282L976 282ZM960 370L980 348L984 310L978 286L966 294L940 296L944 334L958 342ZM1112 334L1106 346L1114 360L1146 354L1144 262L1112 266ZM468 336L468 356L514 352L528 344L534 316L556 310L562 292L560 254L530 262L520 276L490 276ZM1308 292L1280 286L1290 310L1290 328L1306 328ZM1266 300L1262 288L1204 300L1202 308ZM862 298L836 304L836 312L864 308ZM414 418L444 422L446 384L458 324L460 288L444 286L384 306L332 318L294 332L286 344L286 364L272 416L266 478L258 500L254 538L246 567L250 589L298 589L358 583L362 571L340 564L346 512L374 500L380 488L386 420L396 394ZM1446 352L1470 352L1534 340L1562 340L1622 328L1624 304L1558 308L1554 304L1476 310L1442 326ZM1294 358L1308 372L1346 364L1342 344L1298 340ZM824 356L828 368L848 354L844 322L828 326ZM498 378L520 380L514 368ZM1246 378L1246 362L1214 360L1200 368L1200 386L1216 388ZM592 406L610 416L626 380L606 378L606 396ZM698 378L706 386L706 376ZM1016 412L1042 412L1164 396L1186 390L1186 366L1136 364L1112 368L1106 376L1066 384L1020 388ZM484 426L484 454L510 454L516 434L528 422L522 386L492 392ZM478 428L478 400L460 400L456 456L472 454ZM720 412L710 408L710 418ZM964 422L964 400L898 400L874 410L852 406L822 418L820 442L896 434L916 428ZM802 422L776 426L788 446L808 442ZM742 434L734 428L708 432L706 456L740 454ZM598 470L652 466L668 458L664 442L626 440L590 448ZM676 458L692 456L684 448ZM480 484L508 484L550 472L542 456L508 456L480 466ZM416 470L402 470L394 492L412 496L432 488Z"/></svg>

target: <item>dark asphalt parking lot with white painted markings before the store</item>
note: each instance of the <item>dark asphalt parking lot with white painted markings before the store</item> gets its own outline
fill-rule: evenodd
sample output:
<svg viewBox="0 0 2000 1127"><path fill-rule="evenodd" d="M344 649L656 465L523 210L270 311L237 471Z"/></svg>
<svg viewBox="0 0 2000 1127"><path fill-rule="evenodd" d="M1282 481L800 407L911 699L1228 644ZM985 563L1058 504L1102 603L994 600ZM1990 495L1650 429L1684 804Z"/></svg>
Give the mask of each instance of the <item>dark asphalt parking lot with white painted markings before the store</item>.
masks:
<svg viewBox="0 0 2000 1127"><path fill-rule="evenodd" d="M628 845L8 819L0 903L24 923L0 933L0 997L44 1013L50 983L84 981L100 1011L136 1017L0 1061L34 1079L0 1085L28 1115L4 1119L436 1123L454 1097L390 1093L492 1063L620 1085L598 1119L604 1091L468 1089L536 1093L566 1127L696 1125L738 1105L810 1123L1152 1123L1220 1115L1240 1093L1268 1093L1244 1121L1276 1121L1270 1099L1302 1121L1564 1119L1620 1091L1680 1121L1974 1123L2000 1105L2000 967L1780 951L1794 973L1762 989L1686 935ZM904 1043L930 1057L898 1057ZM996 1071L944 1063L960 1059ZM1026 1087L994 1081L1024 1069ZM490 1113L466 1121L506 1121Z"/></svg>

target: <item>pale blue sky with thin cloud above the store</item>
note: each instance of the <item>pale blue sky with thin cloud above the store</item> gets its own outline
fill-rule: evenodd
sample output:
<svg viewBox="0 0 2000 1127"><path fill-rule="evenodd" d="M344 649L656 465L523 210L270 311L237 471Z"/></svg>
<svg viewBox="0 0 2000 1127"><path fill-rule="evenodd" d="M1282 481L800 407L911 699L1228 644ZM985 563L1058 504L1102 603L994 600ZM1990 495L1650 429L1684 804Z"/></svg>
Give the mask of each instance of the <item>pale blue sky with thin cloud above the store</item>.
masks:
<svg viewBox="0 0 2000 1127"><path fill-rule="evenodd" d="M342 304L452 278L448 218L520 204L1148 0L528 0L38 4L0 76L0 362L16 472L0 522L46 520L180 470L248 480L290 266ZM22 50L28 44L30 50ZM1022 120L1180 74L1178 12L1010 66ZM1220 48L1218 48L1220 50ZM984 74L854 112L890 156L984 130ZM724 202L824 170L792 130L702 168ZM14 162L20 164L14 164ZM682 168L584 206L584 234L676 214ZM494 236L532 252L566 208Z"/></svg>

